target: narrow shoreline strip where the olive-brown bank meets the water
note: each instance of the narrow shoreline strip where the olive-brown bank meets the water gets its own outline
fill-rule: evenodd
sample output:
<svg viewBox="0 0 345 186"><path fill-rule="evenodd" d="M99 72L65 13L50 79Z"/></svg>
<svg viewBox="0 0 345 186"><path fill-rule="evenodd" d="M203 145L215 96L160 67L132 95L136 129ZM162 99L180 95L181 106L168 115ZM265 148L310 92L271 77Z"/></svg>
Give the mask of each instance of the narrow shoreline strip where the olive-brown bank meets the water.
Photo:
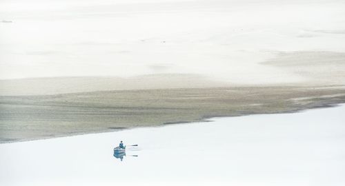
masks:
<svg viewBox="0 0 345 186"><path fill-rule="evenodd" d="M74 134L61 134L57 136L42 136L37 138L25 138L25 139L19 139L19 140L13 140L13 141L6 141L3 139L0 139L0 145L2 144L8 144L8 143L21 143L21 142L30 142L30 141L39 141L39 140L46 140L46 139L53 139L53 138L63 138L63 137L70 137L70 136L80 136L80 135L87 135L87 134L101 134L101 133L108 133L108 132L119 132L122 130L133 130L137 128L146 128L146 127L164 127L167 125L179 125L179 124L189 124L189 123L199 123L199 122L213 122L212 118L230 118L230 117L239 117L239 116L250 116L250 115L259 115L259 114L293 114L298 112L304 112L307 110L315 110L315 109L322 109L322 108L329 108L329 107L339 107L340 105L344 104L345 100L333 103L330 101L329 103L321 103L314 105L309 105L306 107L296 107L294 110L285 110L285 111L278 111L278 112L253 112L251 114L237 114L237 115L224 115L224 116L206 116L203 118L199 118L196 121L176 121L176 122L167 122L167 123L161 123L160 125L143 125L143 126L134 126L134 127L113 127L113 129L109 130L101 130L101 131L95 131L95 132L81 132L81 133L74 133Z"/></svg>

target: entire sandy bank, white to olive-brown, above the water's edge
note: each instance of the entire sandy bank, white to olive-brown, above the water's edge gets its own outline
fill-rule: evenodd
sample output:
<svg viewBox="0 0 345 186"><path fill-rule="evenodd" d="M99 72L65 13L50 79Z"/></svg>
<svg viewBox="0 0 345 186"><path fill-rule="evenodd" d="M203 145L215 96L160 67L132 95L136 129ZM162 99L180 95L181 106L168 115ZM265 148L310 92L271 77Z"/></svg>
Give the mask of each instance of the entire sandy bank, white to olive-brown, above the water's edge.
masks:
<svg viewBox="0 0 345 186"><path fill-rule="evenodd" d="M0 143L344 103L344 7L1 1Z"/></svg>

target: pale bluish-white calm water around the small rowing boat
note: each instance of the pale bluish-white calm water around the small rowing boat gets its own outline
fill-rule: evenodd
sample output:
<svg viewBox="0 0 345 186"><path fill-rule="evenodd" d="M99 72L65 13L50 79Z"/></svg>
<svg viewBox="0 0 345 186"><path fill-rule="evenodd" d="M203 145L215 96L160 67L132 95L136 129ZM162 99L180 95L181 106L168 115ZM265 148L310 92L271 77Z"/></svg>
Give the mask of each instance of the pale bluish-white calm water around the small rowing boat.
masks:
<svg viewBox="0 0 345 186"><path fill-rule="evenodd" d="M0 145L0 185L345 185L345 105ZM112 156L120 140L123 161Z"/></svg>

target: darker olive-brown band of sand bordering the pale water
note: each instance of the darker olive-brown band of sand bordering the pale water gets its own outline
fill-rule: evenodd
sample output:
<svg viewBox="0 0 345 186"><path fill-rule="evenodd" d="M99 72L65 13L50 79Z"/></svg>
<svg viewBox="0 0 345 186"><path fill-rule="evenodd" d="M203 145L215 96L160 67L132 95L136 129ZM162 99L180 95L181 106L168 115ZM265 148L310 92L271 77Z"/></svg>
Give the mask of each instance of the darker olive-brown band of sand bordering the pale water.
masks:
<svg viewBox="0 0 345 186"><path fill-rule="evenodd" d="M0 143L297 112L345 103L344 86L117 90L0 96Z"/></svg>

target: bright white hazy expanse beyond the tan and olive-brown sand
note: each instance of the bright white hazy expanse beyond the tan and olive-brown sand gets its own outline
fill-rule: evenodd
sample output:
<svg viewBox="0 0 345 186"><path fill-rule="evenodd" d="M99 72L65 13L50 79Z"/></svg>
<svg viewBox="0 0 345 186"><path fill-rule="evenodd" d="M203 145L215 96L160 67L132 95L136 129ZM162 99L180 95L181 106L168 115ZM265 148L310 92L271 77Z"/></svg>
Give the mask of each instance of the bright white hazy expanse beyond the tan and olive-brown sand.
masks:
<svg viewBox="0 0 345 186"><path fill-rule="evenodd" d="M299 82L259 63L279 52L344 52L344 8L340 0L1 0L0 79L184 73Z"/></svg>

